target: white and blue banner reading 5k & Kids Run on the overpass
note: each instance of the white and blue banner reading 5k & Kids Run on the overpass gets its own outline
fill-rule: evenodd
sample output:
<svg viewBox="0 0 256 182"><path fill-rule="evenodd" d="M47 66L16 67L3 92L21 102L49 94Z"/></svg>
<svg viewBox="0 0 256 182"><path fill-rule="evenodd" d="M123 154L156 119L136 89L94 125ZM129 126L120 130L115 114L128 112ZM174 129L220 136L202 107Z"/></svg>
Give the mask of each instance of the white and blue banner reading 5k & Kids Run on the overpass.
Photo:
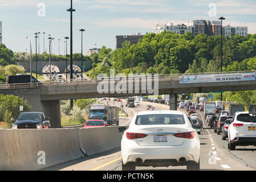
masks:
<svg viewBox="0 0 256 182"><path fill-rule="evenodd" d="M178 76L180 84L194 84L202 82L225 82L225 81L251 81L255 80L255 72L250 73L225 73L211 75L184 75Z"/></svg>

